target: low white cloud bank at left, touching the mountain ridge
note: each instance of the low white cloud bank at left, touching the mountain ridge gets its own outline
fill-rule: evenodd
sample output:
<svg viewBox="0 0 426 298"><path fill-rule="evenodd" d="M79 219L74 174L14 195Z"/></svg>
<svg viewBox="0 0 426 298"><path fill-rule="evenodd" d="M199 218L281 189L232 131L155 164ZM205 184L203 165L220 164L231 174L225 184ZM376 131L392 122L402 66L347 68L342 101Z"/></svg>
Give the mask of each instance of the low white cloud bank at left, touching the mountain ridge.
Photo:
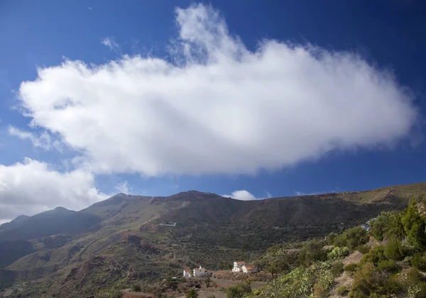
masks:
<svg viewBox="0 0 426 298"><path fill-rule="evenodd" d="M30 158L0 165L0 221L56 206L79 210L107 197L94 187L94 175L84 170L58 172Z"/></svg>

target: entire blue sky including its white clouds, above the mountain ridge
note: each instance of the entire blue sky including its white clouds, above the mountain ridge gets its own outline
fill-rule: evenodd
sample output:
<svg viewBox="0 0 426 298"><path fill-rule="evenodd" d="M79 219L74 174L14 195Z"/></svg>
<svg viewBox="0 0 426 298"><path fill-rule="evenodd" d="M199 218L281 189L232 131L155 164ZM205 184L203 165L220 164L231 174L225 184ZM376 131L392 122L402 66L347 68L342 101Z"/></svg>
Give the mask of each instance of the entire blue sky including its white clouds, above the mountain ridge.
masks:
<svg viewBox="0 0 426 298"><path fill-rule="evenodd" d="M119 191L252 199L425 181L425 13L2 2L0 221Z"/></svg>

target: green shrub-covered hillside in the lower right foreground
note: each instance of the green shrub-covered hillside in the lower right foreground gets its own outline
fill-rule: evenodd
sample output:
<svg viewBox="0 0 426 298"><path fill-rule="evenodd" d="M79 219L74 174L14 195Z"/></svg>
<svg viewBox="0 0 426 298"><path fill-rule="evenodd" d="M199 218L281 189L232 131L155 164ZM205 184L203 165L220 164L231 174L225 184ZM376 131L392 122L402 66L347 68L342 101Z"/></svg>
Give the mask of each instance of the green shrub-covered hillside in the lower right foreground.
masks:
<svg viewBox="0 0 426 298"><path fill-rule="evenodd" d="M354 298L426 297L424 209L414 200L402 212L383 212L371 221L369 233L361 226L331 233L327 240L332 247L307 242L297 252L298 262L288 250L271 248L261 261L275 278L249 297L328 297L333 291ZM385 242L368 249L368 234ZM358 249L364 251L361 261L344 267L342 260ZM338 284L342 274L351 276L351 287Z"/></svg>

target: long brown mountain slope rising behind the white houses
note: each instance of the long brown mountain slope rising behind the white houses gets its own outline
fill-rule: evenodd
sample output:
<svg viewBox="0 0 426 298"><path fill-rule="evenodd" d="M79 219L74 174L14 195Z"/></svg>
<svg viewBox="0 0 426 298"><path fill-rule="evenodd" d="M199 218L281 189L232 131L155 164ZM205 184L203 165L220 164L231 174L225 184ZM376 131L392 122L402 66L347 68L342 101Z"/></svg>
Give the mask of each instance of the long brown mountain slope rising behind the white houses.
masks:
<svg viewBox="0 0 426 298"><path fill-rule="evenodd" d="M77 296L89 295L104 287L102 280L113 286L135 275L155 280L186 265L224 268L233 259L253 258L275 243L323 237L381 211L401 210L410 197L425 193L426 183L249 202L196 191L169 197L116 194L82 211L47 212L80 216L83 223L82 219L96 219L87 225L54 229L39 224L40 231L34 231L33 218L46 216L38 214L18 229L1 231L0 244L4 236L13 240L10 231L18 231L19 239L33 239L36 251L6 268L16 281L48 276L40 287L50 289L50 294L66 297L61 293L72 289ZM166 222L178 224L161 225Z"/></svg>

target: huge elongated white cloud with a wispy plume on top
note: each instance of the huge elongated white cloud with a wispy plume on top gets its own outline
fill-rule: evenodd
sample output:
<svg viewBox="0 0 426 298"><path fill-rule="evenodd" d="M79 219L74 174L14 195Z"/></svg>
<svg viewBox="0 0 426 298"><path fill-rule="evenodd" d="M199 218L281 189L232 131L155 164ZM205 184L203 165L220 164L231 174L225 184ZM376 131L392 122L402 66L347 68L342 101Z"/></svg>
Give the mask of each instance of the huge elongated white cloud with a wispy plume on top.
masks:
<svg viewBox="0 0 426 298"><path fill-rule="evenodd" d="M349 52L229 34L209 6L177 9L173 62L123 56L38 69L19 97L93 172L255 173L329 150L392 145L417 118L394 77Z"/></svg>

